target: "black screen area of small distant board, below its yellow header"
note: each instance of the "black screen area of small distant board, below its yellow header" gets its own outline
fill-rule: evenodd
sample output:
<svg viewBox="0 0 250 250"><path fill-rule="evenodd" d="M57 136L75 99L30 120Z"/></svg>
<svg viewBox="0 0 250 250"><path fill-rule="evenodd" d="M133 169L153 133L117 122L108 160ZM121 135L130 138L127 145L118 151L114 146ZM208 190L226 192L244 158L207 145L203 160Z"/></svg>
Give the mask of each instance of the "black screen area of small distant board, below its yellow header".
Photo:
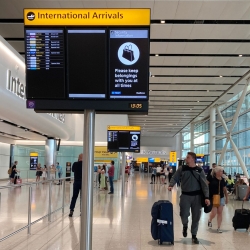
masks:
<svg viewBox="0 0 250 250"><path fill-rule="evenodd" d="M140 131L108 131L108 152L140 152Z"/></svg>

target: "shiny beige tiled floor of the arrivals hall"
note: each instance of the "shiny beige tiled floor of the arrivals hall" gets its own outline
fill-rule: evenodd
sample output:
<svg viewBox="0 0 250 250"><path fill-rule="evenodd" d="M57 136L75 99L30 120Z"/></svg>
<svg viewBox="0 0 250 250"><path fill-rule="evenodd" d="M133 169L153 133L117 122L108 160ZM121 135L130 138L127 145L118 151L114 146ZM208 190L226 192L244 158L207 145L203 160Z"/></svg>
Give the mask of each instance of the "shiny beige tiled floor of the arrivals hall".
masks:
<svg viewBox="0 0 250 250"><path fill-rule="evenodd" d="M2 183L0 183L2 185ZM28 189L26 187L15 188L9 191L0 191L0 238L13 230L25 225L27 222ZM174 190L167 191L167 185L150 185L147 174L136 172L126 183L125 198L120 196L120 182L115 183L115 194L107 192L94 192L94 218L93 218L93 247L95 250L150 250L160 249L248 249L250 243L249 232L234 231L232 216L236 208L241 207L240 201L230 197L230 203L224 208L222 234L214 229L207 228L208 215L202 213L198 238L200 245L192 245L190 231L187 238L182 236L182 225L179 217L179 193ZM47 212L46 185L34 186L32 195L32 220L36 220ZM71 197L71 186L67 184L65 201L68 203ZM61 186L53 186L53 208L60 207L62 201ZM151 207L159 199L169 199L174 205L175 245L159 246L150 233ZM246 202L246 208L250 203ZM24 230L15 236L0 243L1 250L79 250L79 202L73 218L68 217L68 209L65 214L57 212L52 216L52 222L47 218L32 226L31 235Z"/></svg>

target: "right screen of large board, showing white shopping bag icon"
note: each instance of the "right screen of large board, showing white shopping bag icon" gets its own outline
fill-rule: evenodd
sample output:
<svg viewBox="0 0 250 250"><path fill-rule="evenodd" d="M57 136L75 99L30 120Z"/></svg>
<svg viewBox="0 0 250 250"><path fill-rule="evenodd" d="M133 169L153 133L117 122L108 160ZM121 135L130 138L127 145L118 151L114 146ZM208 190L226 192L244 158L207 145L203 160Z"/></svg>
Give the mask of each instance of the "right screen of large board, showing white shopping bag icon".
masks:
<svg viewBox="0 0 250 250"><path fill-rule="evenodd" d="M109 98L148 99L149 30L109 30Z"/></svg>

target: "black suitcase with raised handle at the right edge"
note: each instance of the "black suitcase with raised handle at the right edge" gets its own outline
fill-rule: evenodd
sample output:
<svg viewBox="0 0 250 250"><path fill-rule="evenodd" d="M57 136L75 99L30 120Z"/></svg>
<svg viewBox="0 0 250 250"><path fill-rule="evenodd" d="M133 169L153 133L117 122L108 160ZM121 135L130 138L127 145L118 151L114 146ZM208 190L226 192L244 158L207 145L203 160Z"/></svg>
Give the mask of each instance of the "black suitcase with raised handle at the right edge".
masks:
<svg viewBox="0 0 250 250"><path fill-rule="evenodd" d="M250 224L250 210L243 208L244 201L242 203L242 209L236 209L233 217L233 227L236 229L248 230Z"/></svg>

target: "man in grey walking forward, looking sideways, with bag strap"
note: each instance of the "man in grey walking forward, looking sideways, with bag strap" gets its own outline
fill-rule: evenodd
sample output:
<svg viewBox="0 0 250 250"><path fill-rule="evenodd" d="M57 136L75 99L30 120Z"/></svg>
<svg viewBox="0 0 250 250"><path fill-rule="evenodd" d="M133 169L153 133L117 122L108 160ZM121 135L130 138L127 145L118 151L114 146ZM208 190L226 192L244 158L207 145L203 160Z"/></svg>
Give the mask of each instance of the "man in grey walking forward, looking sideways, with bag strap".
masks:
<svg viewBox="0 0 250 250"><path fill-rule="evenodd" d="M199 244L196 235L199 227L199 220L201 216L202 200L205 199L205 204L210 205L209 189L206 181L206 176L202 168L197 167L196 154L188 152L186 157L186 164L178 168L170 180L168 187L172 191L173 186L181 179L182 194L180 196L180 216L183 224L183 237L187 237L188 217L190 216L190 208L192 212L192 242ZM202 195L203 194L203 195Z"/></svg>

